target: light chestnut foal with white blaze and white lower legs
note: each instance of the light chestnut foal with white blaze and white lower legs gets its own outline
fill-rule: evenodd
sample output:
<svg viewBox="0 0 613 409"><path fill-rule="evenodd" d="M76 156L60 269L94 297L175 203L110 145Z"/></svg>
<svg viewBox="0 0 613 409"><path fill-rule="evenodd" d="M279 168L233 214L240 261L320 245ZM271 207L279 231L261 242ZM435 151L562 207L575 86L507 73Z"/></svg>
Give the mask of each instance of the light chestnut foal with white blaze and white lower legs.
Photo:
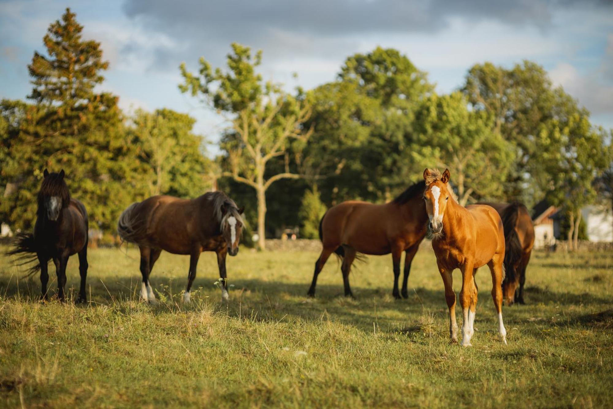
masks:
<svg viewBox="0 0 613 409"><path fill-rule="evenodd" d="M443 278L445 299L449 307L449 333L457 342L455 292L452 272L462 271L462 345L470 346L477 306L477 285L474 273L487 264L492 273L492 298L498 313L498 333L506 344L502 321L502 280L504 277L504 229L498 212L485 204L460 206L447 182L449 169L443 175L435 169L424 170L425 206L432 233L436 265ZM443 222L444 220L444 222Z"/></svg>

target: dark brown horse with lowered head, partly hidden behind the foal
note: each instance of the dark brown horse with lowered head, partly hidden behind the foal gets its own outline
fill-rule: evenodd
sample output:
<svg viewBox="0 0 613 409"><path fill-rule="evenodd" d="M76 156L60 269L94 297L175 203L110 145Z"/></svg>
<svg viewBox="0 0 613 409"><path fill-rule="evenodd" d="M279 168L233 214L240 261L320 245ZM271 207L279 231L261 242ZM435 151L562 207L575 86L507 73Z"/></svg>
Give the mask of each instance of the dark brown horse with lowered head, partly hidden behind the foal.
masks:
<svg viewBox="0 0 613 409"><path fill-rule="evenodd" d="M484 203L496 209L503 222L506 252L504 268L506 276L502 282L502 293L507 305L524 304L526 267L535 244L535 227L524 204ZM517 289L519 286L519 289Z"/></svg>

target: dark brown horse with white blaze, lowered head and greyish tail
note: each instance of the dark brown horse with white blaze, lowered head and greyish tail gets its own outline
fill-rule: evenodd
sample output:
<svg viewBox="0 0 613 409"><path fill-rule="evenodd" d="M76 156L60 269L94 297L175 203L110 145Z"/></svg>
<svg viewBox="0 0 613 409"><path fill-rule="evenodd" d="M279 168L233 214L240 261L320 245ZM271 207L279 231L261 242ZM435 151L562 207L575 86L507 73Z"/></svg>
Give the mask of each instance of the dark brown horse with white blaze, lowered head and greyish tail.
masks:
<svg viewBox="0 0 613 409"><path fill-rule="evenodd" d="M121 240L140 249L143 276L140 297L157 303L149 282L153 265L162 250L189 255L188 286L183 301L189 303L192 282L200 253L215 251L221 278L221 297L229 300L226 283L226 255L238 254L243 231L243 208L223 192L209 192L195 199L153 196L132 203L120 216L117 232Z"/></svg>

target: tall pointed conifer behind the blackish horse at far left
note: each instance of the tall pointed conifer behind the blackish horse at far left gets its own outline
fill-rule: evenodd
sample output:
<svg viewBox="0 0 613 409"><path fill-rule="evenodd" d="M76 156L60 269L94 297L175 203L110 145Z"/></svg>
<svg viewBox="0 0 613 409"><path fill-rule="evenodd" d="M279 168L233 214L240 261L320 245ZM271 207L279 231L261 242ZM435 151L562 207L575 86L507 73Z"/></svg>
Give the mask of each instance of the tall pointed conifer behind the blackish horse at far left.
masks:
<svg viewBox="0 0 613 409"><path fill-rule="evenodd" d="M8 147L18 158L3 177L18 188L2 211L16 228L29 228L35 218L34 195L42 169L64 169L72 195L83 201L90 220L112 228L138 185L134 148L123 133L116 96L94 89L109 67L96 41L82 38L83 26L66 9L43 41L46 55L35 52L29 64L36 108L27 107ZM20 108L23 111L23 107Z"/></svg>

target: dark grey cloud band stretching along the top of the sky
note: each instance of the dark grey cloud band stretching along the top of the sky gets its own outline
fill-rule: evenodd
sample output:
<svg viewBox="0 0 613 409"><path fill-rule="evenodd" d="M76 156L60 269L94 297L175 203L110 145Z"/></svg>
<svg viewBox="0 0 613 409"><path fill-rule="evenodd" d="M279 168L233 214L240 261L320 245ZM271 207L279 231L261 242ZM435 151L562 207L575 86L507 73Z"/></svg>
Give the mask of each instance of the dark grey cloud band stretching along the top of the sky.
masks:
<svg viewBox="0 0 613 409"><path fill-rule="evenodd" d="M340 50L356 49L371 33L434 33L451 18L546 29L557 9L610 6L609 0L126 0L123 10L180 42L156 50L154 65L166 70L200 55L222 64L234 41L264 49L265 61L317 55L340 63Z"/></svg>

